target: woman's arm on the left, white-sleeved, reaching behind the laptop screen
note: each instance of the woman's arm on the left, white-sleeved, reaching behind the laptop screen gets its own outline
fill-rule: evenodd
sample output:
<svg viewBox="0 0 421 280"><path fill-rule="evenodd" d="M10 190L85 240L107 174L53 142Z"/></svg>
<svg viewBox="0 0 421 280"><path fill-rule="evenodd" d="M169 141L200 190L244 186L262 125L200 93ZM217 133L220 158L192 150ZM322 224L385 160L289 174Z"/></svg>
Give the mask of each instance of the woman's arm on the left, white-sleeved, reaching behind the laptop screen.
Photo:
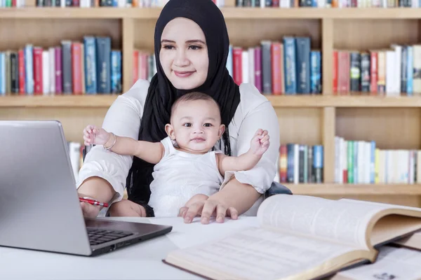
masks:
<svg viewBox="0 0 421 280"><path fill-rule="evenodd" d="M116 135L138 139L148 87L147 80L138 80L128 92L117 97L107 111L102 127ZM76 183L79 195L93 197L109 204L120 201L132 162L133 158L130 155L117 155L106 151L102 146L94 146L86 154L79 171L79 181ZM85 216L98 215L99 207L95 207L95 211L85 211L83 207L94 206L86 203L83 205Z"/></svg>

